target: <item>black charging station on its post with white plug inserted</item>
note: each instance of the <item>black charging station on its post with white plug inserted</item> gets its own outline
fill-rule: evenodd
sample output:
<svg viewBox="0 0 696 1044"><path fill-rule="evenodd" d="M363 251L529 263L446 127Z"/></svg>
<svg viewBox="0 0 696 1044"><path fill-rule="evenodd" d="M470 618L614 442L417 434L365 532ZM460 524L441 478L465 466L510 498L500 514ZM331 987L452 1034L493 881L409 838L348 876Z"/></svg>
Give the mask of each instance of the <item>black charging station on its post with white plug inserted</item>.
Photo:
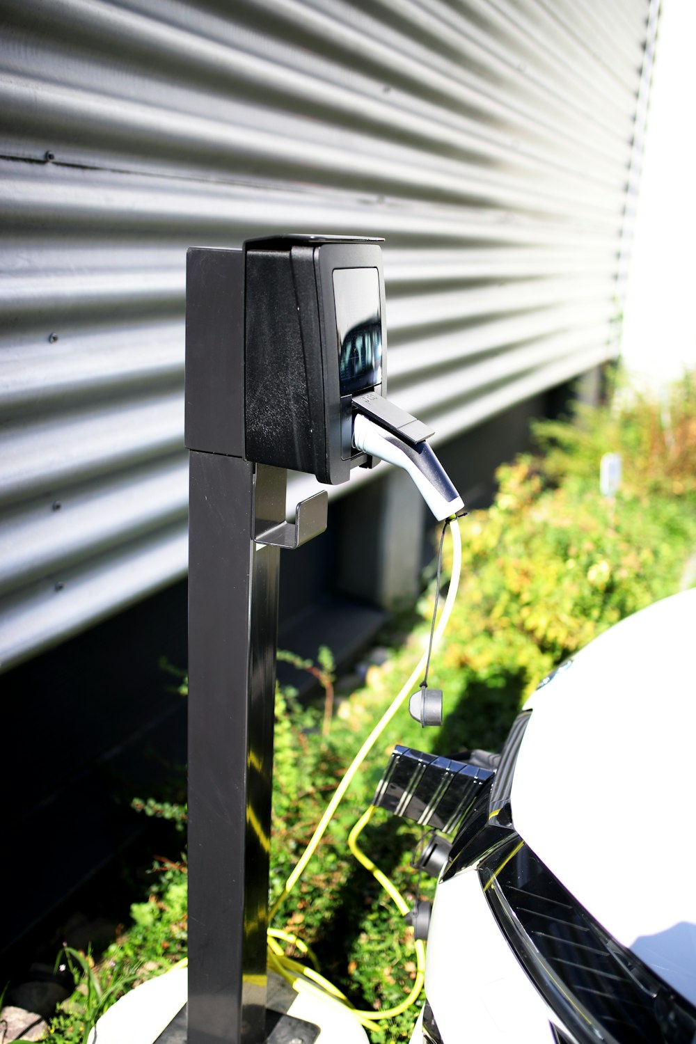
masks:
<svg viewBox="0 0 696 1044"><path fill-rule="evenodd" d="M316 1027L288 1037L266 1012L280 550L322 532L328 507L322 491L287 522L287 470L335 484L382 458L436 518L463 505L432 430L386 398L379 240L192 248L186 324L188 1042L310 1044Z"/></svg>

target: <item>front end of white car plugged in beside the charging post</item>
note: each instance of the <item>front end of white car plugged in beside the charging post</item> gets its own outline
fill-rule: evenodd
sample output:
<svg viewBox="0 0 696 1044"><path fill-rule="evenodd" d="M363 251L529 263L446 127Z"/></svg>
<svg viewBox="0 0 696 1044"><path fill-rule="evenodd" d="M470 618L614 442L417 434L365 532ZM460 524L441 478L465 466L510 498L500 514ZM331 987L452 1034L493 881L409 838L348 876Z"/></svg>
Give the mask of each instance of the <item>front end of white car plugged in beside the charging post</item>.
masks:
<svg viewBox="0 0 696 1044"><path fill-rule="evenodd" d="M695 647L691 590L526 704L443 856L411 1044L696 1042Z"/></svg>

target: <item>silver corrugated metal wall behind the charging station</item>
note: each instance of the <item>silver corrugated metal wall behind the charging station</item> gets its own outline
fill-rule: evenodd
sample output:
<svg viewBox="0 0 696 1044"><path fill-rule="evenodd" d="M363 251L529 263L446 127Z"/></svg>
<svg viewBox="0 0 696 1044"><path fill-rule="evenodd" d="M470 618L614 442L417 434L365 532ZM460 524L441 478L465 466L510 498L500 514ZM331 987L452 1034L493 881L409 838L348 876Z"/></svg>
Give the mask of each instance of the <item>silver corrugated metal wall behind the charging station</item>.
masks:
<svg viewBox="0 0 696 1044"><path fill-rule="evenodd" d="M188 245L385 236L390 397L439 438L614 351L655 0L0 17L3 667L185 573Z"/></svg>

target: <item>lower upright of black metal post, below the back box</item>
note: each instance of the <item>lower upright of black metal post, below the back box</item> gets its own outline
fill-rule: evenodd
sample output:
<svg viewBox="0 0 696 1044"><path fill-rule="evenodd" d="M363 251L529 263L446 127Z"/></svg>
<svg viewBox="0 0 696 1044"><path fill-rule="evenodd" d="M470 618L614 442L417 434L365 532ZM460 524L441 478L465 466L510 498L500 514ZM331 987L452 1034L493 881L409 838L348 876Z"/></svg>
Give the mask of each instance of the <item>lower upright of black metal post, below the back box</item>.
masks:
<svg viewBox="0 0 696 1044"><path fill-rule="evenodd" d="M265 1040L278 547L254 465L192 452L189 1044Z"/></svg>

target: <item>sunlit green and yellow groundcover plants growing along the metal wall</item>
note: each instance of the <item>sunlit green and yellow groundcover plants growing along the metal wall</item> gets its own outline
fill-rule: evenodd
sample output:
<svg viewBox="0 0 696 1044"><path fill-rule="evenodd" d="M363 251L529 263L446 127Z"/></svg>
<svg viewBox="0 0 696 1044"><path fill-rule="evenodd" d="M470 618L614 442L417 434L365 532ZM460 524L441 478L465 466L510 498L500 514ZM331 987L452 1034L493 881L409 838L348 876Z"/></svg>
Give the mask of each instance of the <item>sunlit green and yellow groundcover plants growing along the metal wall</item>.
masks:
<svg viewBox="0 0 696 1044"><path fill-rule="evenodd" d="M274 922L310 944L322 973L360 1007L397 1005L415 978L413 943L402 919L345 844L393 744L442 754L499 749L521 703L555 664L689 583L696 550L693 376L661 402L615 397L613 407L580 408L571 422L538 422L534 436L535 454L499 470L491 507L462 523L459 598L431 668L446 694L442 728L422 731L405 710L397 715ZM615 499L599 491L606 452L623 459ZM292 690L277 696L271 900L353 754L421 655L433 597L431 580L415 614L395 619L383 636L386 662L370 666L352 693L340 683L334 692L329 650L319 650L316 664L284 655L318 679L328 706L302 706ZM185 827L179 805L154 799L134 804ZM379 812L362 838L410 899L416 889L429 898L433 888L409 867L418 836L412 824ZM177 844L172 830L174 853ZM185 855L155 864L148 896L131 908L133 924L98 960L91 954L58 957L73 969L76 990L51 1025L56 1041L82 1041L94 1017L120 993L186 954L186 870ZM415 1015L412 1009L378 1024L371 1039L407 1041Z"/></svg>

